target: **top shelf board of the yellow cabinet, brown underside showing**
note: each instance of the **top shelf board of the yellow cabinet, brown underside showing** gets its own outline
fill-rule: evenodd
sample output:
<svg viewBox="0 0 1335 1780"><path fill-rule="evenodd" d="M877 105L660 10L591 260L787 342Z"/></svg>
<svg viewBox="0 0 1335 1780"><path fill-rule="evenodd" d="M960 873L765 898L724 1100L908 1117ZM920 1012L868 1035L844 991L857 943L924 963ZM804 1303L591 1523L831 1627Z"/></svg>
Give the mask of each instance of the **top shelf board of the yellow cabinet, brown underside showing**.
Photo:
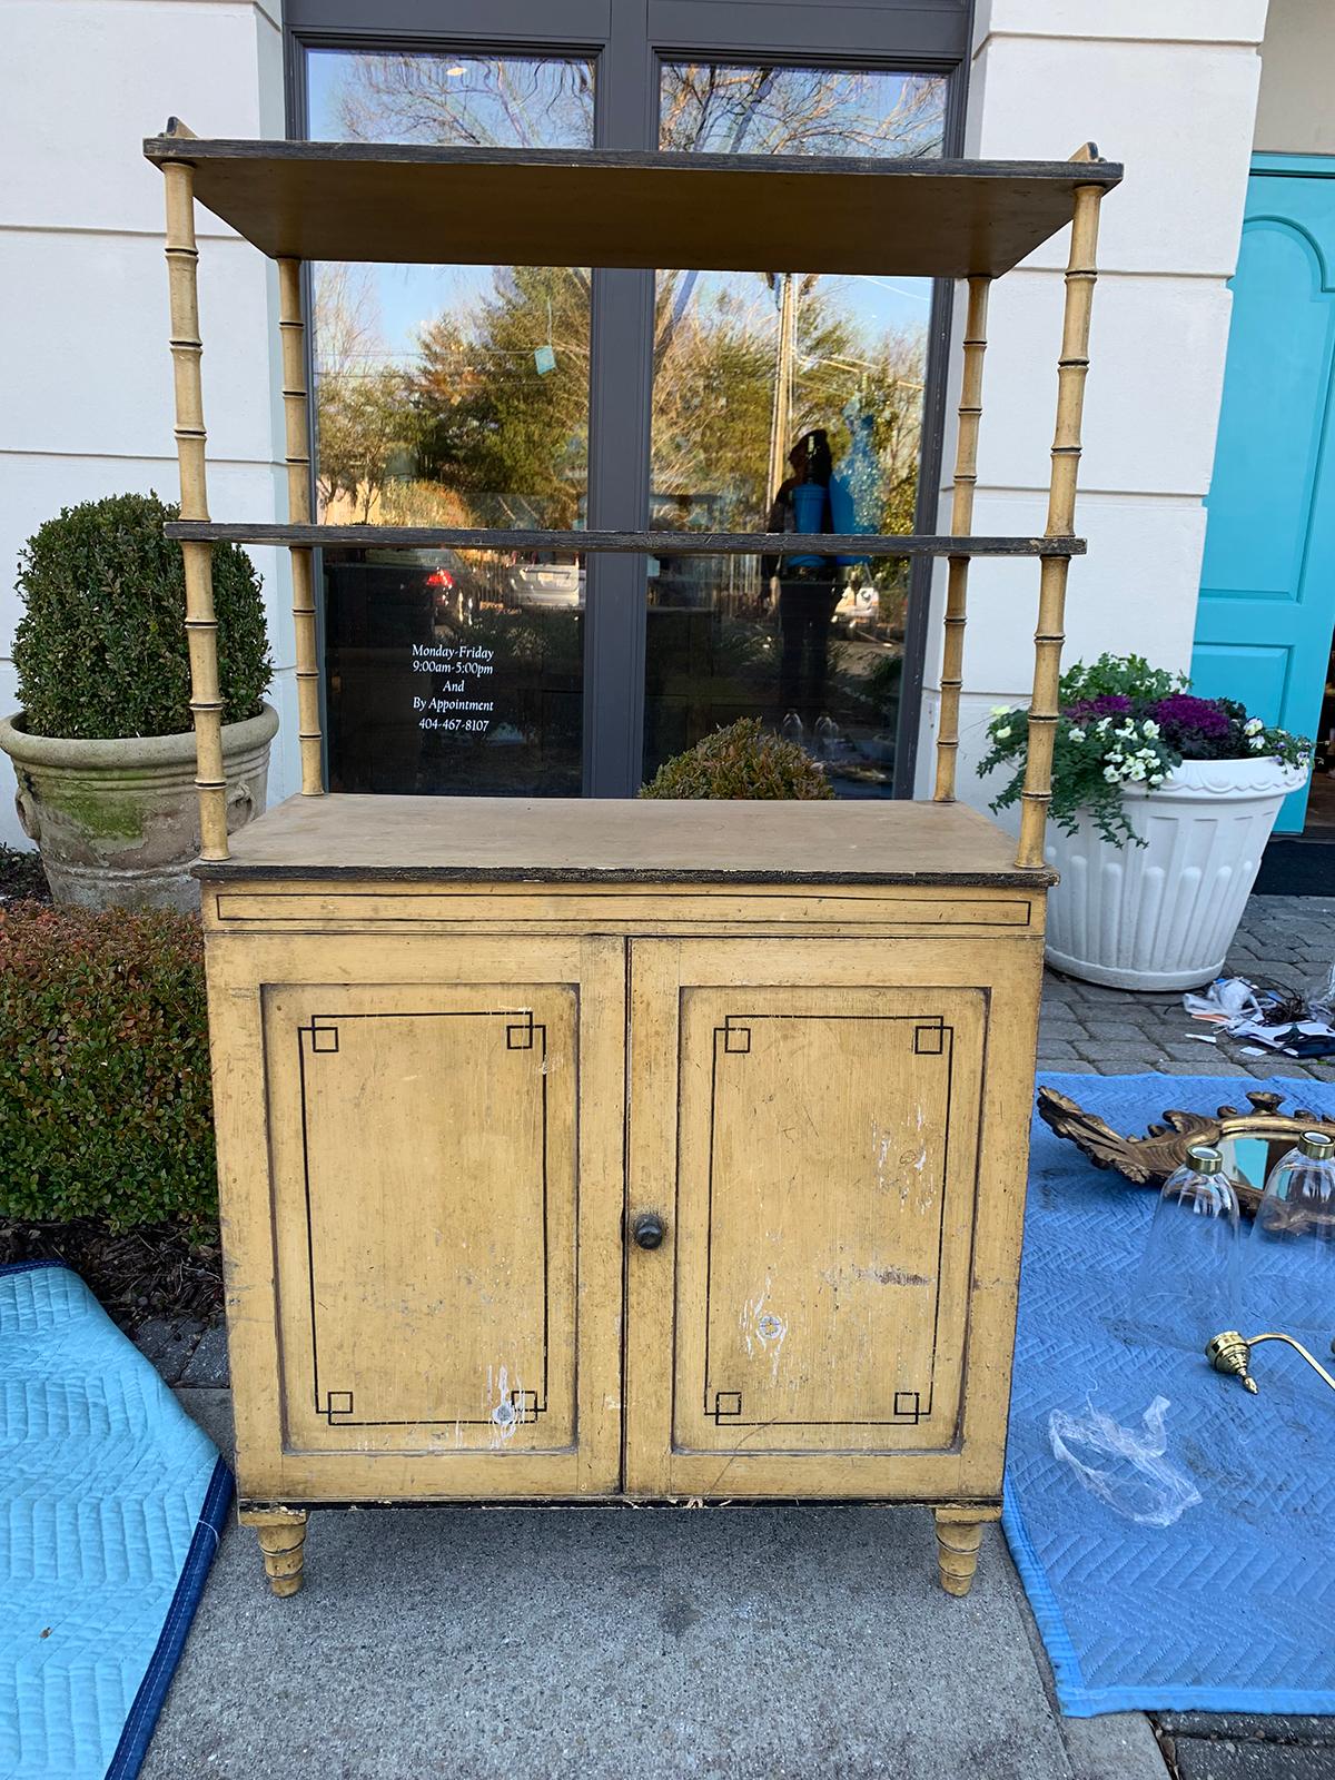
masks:
<svg viewBox="0 0 1335 1780"><path fill-rule="evenodd" d="M194 192L271 258L424 265L999 276L1072 217L1107 160L233 142L160 135Z"/></svg>

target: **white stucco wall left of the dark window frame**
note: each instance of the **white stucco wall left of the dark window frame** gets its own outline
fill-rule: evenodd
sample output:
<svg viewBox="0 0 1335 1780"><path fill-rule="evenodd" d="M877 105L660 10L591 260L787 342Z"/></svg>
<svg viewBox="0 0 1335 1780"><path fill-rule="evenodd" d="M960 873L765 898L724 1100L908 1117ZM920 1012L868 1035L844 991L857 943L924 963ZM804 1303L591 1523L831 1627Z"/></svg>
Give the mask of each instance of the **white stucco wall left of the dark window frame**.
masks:
<svg viewBox="0 0 1335 1780"><path fill-rule="evenodd" d="M0 0L0 710L23 539L61 507L126 490L174 500L162 174L142 137L283 135L278 0ZM199 212L214 518L283 518L272 269ZM276 502L281 500L283 507ZM285 566L263 575L283 732L271 796L297 783ZM0 840L21 846L0 756Z"/></svg>

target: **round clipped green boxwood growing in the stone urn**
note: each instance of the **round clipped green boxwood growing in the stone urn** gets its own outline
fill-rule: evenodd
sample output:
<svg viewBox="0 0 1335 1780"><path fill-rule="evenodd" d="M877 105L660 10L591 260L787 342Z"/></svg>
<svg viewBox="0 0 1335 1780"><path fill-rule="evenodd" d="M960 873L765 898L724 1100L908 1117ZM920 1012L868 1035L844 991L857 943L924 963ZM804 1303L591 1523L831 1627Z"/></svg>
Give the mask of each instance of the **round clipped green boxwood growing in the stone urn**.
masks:
<svg viewBox="0 0 1335 1780"><path fill-rule="evenodd" d="M14 632L18 696L34 735L105 740L190 728L182 546L157 495L64 507L20 554L27 607ZM222 721L260 714L272 678L260 577L237 545L214 546Z"/></svg>

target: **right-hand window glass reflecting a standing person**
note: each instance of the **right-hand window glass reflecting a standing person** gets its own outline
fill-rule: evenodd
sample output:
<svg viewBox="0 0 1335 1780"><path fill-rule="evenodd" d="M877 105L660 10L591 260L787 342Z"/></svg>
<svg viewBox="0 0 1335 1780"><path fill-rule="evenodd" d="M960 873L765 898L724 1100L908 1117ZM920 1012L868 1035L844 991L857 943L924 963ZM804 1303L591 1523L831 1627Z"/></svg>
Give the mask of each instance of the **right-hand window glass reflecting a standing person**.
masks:
<svg viewBox="0 0 1335 1780"><path fill-rule="evenodd" d="M940 155L943 82L885 71L664 66L660 146ZM650 523L913 529L929 279L659 274ZM908 564L796 545L773 561L653 559L644 776L758 716L838 796L888 796Z"/></svg>

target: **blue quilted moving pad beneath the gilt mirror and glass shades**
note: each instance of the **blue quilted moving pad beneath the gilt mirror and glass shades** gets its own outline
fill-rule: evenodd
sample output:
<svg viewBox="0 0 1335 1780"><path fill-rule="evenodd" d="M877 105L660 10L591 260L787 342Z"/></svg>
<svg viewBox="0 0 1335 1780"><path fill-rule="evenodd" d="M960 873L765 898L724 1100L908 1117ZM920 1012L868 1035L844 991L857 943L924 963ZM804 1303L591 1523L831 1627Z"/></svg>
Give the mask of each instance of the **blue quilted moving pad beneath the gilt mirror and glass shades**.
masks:
<svg viewBox="0 0 1335 1780"><path fill-rule="evenodd" d="M1137 1136L1169 1105L1214 1112L1246 1086L1041 1080ZM1267 1086L1335 1114L1335 1086ZM1153 1207L1152 1191L1093 1168L1034 1120L1004 1527L1057 1698L1073 1718L1335 1712L1335 1396L1282 1346L1257 1349L1251 1397L1203 1356L1136 1331L1129 1280ZM1048 1436L1054 1408L1082 1415L1086 1401L1141 1431L1155 1396L1171 1403L1164 1458L1202 1497L1168 1527L1082 1488Z"/></svg>

